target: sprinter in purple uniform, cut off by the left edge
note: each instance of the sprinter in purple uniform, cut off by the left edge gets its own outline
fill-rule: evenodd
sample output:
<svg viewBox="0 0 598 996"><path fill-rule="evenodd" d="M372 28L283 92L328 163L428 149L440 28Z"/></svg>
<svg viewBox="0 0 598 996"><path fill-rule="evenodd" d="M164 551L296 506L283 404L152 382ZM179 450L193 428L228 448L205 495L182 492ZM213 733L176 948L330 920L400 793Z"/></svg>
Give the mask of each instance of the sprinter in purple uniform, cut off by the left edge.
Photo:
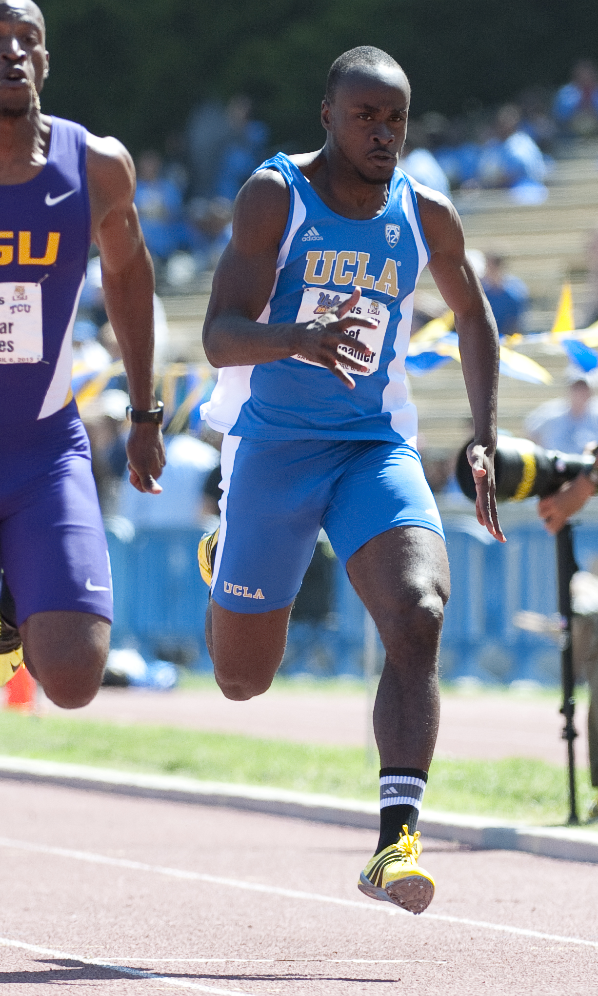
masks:
<svg viewBox="0 0 598 996"><path fill-rule="evenodd" d="M91 240L128 375L138 490L161 491L164 450L152 386L153 271L132 161L114 138L41 114L45 34L31 0L0 3L0 680L24 652L46 694L76 708L100 686L112 620L90 444L71 391Z"/></svg>

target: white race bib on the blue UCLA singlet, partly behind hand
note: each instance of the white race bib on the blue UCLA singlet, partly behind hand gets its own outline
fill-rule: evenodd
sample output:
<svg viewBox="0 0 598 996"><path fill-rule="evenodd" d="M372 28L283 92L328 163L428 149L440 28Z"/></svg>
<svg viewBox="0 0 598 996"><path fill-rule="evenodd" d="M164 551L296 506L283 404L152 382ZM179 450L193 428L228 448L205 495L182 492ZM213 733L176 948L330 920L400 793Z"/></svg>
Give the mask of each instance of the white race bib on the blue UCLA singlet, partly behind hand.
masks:
<svg viewBox="0 0 598 996"><path fill-rule="evenodd" d="M296 321L298 323L313 322L318 315L325 315L331 308L336 308L348 298L350 298L350 294L336 294L330 291L320 291L317 287L306 287L303 291ZM345 336L348 342L346 346L341 346L338 350L339 364L343 370L351 373L351 376L369 376L378 370L390 313L386 305L382 304L381 301L360 297L358 304L354 308L351 308L349 315L375 322L377 329L365 329L361 326L349 326L348 329L345 329ZM359 348L362 342L367 343L372 350L369 357L364 356L362 349ZM366 365L369 368L367 373L352 370L347 364L343 364L341 359L343 353L358 363ZM314 364L312 360L306 360L305 357L301 356L296 356L293 359L300 360L303 364L309 364L310 367L323 366L322 364Z"/></svg>

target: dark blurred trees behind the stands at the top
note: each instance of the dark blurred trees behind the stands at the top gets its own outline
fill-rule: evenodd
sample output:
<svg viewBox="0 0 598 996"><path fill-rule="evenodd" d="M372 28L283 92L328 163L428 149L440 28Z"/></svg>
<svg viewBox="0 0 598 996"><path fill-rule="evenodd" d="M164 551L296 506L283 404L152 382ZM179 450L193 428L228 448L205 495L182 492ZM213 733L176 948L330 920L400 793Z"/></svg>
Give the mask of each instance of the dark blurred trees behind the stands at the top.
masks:
<svg viewBox="0 0 598 996"><path fill-rule="evenodd" d="M322 140L330 63L354 45L390 52L413 113L495 105L565 82L598 53L595 0L41 0L52 55L44 110L164 147L207 97L249 94L289 151Z"/></svg>

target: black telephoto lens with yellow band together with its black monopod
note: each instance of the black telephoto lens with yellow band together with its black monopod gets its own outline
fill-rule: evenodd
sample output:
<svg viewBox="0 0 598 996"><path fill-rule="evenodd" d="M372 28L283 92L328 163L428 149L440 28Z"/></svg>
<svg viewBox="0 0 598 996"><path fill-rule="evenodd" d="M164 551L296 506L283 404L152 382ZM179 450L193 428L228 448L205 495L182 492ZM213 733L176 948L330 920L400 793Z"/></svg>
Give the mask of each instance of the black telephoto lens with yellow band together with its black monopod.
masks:
<svg viewBox="0 0 598 996"><path fill-rule="evenodd" d="M472 501L476 500L476 485L467 456L467 443L457 461L457 480L461 490ZM537 495L558 491L565 481L572 481L579 473L588 473L594 466L590 455L559 453L556 450L542 449L529 439L515 439L511 436L498 436L495 456L495 476L498 501L522 501ZM556 565L558 581L558 611L561 617L560 669L563 691L561 713L565 725L563 740L567 741L569 762L569 824L577 824L577 804L575 800L575 755L573 741L577 736L573 724L575 712L573 654L571 648L571 578L577 571L573 556L573 533L567 523L556 535Z"/></svg>

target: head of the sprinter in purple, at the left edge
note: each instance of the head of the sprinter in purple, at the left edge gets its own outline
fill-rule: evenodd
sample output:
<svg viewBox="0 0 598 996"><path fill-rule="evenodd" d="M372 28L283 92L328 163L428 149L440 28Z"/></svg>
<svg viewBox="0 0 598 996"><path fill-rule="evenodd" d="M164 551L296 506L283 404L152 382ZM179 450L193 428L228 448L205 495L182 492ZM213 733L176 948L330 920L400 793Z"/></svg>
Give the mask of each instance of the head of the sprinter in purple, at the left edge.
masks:
<svg viewBox="0 0 598 996"><path fill-rule="evenodd" d="M20 118L48 76L42 12L30 0L0 3L0 116Z"/></svg>

